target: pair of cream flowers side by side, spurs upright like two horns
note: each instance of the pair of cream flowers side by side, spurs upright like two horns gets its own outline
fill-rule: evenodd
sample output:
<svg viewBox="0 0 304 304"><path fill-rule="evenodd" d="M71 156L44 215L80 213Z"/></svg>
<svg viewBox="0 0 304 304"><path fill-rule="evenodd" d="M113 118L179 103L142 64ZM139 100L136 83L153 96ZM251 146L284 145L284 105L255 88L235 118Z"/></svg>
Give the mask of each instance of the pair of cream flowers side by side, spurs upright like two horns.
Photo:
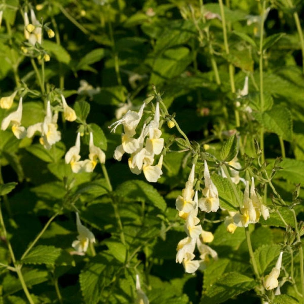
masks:
<svg viewBox="0 0 304 304"><path fill-rule="evenodd" d="M105 163L105 153L94 145L93 133L90 132L89 141L89 158L80 161L80 133L77 133L75 146L71 147L65 154L65 162L71 164L72 171L74 173L79 172L93 172L97 165L97 162L101 164Z"/></svg>

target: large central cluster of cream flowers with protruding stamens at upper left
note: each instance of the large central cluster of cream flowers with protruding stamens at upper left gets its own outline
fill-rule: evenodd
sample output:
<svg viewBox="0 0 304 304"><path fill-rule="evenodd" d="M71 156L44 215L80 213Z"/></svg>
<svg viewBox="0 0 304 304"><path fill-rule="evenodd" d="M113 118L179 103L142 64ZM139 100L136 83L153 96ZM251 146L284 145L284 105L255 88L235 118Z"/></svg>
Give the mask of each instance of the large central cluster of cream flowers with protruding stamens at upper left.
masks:
<svg viewBox="0 0 304 304"><path fill-rule="evenodd" d="M130 154L128 164L134 174L143 172L147 181L156 182L163 173L161 170L163 155L160 156L158 163L154 165L155 155L160 155L164 147L164 139L161 138L160 128L160 110L159 103L155 107L154 118L147 125L144 123L138 138L136 128L143 116L145 103L140 107L138 112L129 110L125 115L110 127L111 131L116 130L119 125L123 125L121 136L121 145L116 147L114 158L120 161L124 153Z"/></svg>

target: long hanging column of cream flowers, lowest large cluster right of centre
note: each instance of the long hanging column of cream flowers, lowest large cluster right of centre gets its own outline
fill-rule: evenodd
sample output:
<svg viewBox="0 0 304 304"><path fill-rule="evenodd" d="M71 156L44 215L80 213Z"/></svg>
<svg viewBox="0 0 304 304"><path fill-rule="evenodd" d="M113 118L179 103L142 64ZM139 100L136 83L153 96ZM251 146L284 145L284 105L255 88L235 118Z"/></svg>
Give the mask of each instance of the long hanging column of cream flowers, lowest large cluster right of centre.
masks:
<svg viewBox="0 0 304 304"><path fill-rule="evenodd" d="M205 170L206 171L206 170ZM208 171L209 174L209 171ZM209 255L217 259L217 253L210 248L208 245L204 244L212 242L213 235L211 232L204 231L202 226L199 225L199 218L197 217L199 208L198 192L193 190L194 186L194 175L195 175L195 165L192 165L191 172L186 182L185 188L182 190L182 195L179 195L176 199L176 209L179 211L179 216L185 219L185 232L187 237L182 239L177 246L176 262L182 263L185 272L194 273L198 268L205 269L209 260ZM210 180L211 181L211 180ZM214 184L209 184L208 186ZM206 186L207 187L207 186ZM217 189L212 187L211 194L207 194L207 198L211 195L217 194ZM206 198L206 199L207 199ZM206 200L205 199L205 200ZM201 201L202 203L202 201ZM197 247L200 253L200 260L194 260L195 254L194 250Z"/></svg>

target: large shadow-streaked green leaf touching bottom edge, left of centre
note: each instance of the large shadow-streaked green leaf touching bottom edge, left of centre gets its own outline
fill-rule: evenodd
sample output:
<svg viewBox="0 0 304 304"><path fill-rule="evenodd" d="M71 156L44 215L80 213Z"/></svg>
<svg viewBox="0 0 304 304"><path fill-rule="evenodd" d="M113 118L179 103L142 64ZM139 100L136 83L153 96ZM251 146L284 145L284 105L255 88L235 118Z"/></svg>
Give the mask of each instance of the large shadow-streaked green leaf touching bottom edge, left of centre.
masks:
<svg viewBox="0 0 304 304"><path fill-rule="evenodd" d="M97 255L81 271L79 282L85 303L98 303L102 290L111 283L117 269L115 260L109 255Z"/></svg>

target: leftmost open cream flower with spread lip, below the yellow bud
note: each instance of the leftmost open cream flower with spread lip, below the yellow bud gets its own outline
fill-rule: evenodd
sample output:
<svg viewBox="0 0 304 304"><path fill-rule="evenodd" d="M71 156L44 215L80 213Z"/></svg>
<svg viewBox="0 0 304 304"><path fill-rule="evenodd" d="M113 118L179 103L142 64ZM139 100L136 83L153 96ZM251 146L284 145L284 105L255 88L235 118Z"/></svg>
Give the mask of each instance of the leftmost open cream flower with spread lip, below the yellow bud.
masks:
<svg viewBox="0 0 304 304"><path fill-rule="evenodd" d="M1 130L6 130L10 123L12 123L12 132L14 135L21 139L26 136L25 127L21 126L22 119L22 97L19 100L18 108L15 112L10 113L6 116L1 123Z"/></svg>

